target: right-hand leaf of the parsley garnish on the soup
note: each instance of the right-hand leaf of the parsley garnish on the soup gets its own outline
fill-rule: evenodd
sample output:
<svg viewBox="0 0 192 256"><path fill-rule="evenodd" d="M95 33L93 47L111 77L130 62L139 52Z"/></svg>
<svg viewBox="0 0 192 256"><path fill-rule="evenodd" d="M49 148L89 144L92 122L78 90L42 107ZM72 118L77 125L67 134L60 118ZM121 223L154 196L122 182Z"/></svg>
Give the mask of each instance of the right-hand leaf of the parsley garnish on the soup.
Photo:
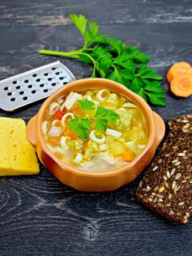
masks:
<svg viewBox="0 0 192 256"><path fill-rule="evenodd" d="M107 121L114 124L118 116L119 115L113 110L108 110L99 106L96 110L95 115L96 129L101 129L105 131L107 129Z"/></svg>

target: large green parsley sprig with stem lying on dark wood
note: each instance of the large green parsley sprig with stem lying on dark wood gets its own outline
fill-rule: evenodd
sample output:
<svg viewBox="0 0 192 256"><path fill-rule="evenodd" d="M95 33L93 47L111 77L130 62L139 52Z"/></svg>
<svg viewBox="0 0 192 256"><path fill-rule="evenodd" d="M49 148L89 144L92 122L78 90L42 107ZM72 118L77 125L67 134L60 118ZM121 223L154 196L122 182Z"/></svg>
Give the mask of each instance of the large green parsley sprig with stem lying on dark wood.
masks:
<svg viewBox="0 0 192 256"><path fill-rule="evenodd" d="M99 26L83 15L69 14L69 18L82 34L84 45L81 49L67 52L39 50L39 53L81 59L93 64L92 78L101 77L122 83L154 105L165 106L161 76L147 67L150 56L134 46L126 46L110 35L101 35Z"/></svg>

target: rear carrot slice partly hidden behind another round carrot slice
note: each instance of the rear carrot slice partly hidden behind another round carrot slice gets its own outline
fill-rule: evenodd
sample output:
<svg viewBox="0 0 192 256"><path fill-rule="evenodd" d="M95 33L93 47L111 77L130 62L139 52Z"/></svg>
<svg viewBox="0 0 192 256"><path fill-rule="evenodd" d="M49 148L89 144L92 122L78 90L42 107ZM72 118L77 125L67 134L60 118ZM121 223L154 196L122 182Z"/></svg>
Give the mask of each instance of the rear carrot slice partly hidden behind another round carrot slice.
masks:
<svg viewBox="0 0 192 256"><path fill-rule="evenodd" d="M172 81L172 79L176 76L176 75L180 75L182 73L189 73L192 74L192 68L191 65L188 64L185 61L182 62L178 62L174 65L172 65L172 67L169 69L169 71L166 74L166 78L168 80L168 82L170 83Z"/></svg>

